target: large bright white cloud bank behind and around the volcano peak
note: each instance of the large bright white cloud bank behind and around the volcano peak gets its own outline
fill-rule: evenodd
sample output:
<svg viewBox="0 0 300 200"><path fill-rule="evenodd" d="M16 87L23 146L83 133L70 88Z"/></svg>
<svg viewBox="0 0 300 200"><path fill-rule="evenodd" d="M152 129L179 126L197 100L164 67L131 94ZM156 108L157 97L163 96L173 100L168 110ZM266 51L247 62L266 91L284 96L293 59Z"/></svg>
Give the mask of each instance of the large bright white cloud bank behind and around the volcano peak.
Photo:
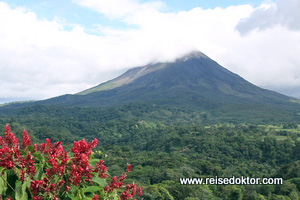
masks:
<svg viewBox="0 0 300 200"><path fill-rule="evenodd" d="M97 2L98 7L105 3ZM101 10L94 1L77 1L138 27L100 24L104 36L87 34L79 25L65 31L57 21L38 20L32 12L0 3L0 99L79 92L129 67L172 60L191 49L260 86L300 87L300 32L270 26L241 36L235 27L257 10L250 5L164 13L159 2L122 2L126 5L108 3Z"/></svg>

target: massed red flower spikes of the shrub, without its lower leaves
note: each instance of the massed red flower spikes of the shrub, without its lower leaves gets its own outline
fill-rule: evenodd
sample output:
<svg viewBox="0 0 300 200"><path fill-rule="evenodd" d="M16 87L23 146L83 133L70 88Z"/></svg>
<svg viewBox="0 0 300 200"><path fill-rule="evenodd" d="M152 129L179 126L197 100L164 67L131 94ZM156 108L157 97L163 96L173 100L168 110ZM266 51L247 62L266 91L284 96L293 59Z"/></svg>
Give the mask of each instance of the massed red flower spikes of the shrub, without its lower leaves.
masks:
<svg viewBox="0 0 300 200"><path fill-rule="evenodd" d="M84 139L74 142L71 149L73 157L70 156L70 158L69 153L62 146L62 142L52 144L51 140L47 138L46 142L40 145L40 152L38 152L38 146L36 144L31 146L31 139L27 131L24 130L23 150L21 150L18 139L6 125L5 138L0 137L0 167L14 172L19 171L16 175L19 176L21 182L30 181L30 188L28 189L31 190L29 195L33 199L41 200L46 195L58 200L61 193L68 194L68 192L74 191L71 190L72 186L92 185L92 178L95 174L100 178L108 177L103 160L96 163L95 168L89 163L92 149L97 144L97 139L90 143ZM37 171L41 173L41 170L43 175L37 175ZM132 165L128 164L127 172L131 171ZM113 177L108 186L103 188L104 191L109 194L114 190L124 188L125 190L120 194L120 200L132 199L137 195L137 188L135 184L128 184L124 187L123 180L126 179L126 176L124 173L118 178ZM38 180L36 177L40 177L42 180ZM92 198L93 200L100 198L96 194ZM2 199L1 195L0 199ZM138 196L141 195L142 189L138 188Z"/></svg>

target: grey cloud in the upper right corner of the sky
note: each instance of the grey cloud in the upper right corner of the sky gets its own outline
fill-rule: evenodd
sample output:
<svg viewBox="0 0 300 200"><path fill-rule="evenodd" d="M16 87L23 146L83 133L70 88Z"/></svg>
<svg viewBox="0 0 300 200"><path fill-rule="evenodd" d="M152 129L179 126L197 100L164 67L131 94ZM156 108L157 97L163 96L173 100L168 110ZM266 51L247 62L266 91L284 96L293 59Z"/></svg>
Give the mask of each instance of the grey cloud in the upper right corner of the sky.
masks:
<svg viewBox="0 0 300 200"><path fill-rule="evenodd" d="M242 19L236 28L241 34L274 26L300 30L299 8L299 0L277 0L276 3L271 1L256 8L249 17Z"/></svg>

